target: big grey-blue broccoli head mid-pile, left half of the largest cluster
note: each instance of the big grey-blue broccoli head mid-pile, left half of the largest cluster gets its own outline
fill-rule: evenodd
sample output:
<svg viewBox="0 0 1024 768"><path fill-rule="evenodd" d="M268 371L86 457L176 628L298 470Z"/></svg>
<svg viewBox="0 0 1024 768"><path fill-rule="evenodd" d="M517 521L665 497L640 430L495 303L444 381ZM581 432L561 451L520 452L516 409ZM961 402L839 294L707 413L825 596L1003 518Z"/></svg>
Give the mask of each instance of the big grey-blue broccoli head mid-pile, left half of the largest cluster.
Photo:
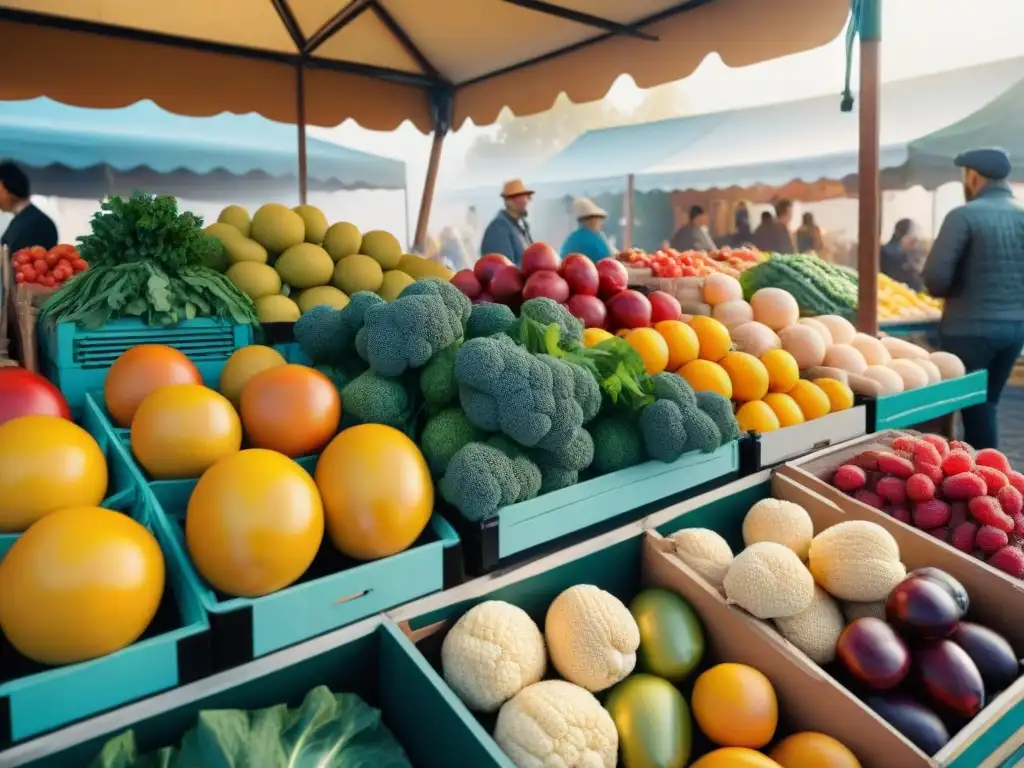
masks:
<svg viewBox="0 0 1024 768"><path fill-rule="evenodd" d="M559 404L551 368L509 337L465 342L456 355L455 375L462 409L480 429L504 432L526 447L551 431Z"/></svg>

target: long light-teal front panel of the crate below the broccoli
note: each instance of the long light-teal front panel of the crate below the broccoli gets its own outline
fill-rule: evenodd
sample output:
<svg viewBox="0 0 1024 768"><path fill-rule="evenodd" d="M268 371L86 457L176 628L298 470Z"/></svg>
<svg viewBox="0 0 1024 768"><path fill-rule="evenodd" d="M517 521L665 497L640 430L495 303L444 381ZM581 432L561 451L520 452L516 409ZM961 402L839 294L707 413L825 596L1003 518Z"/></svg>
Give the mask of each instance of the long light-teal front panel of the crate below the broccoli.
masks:
<svg viewBox="0 0 1024 768"><path fill-rule="evenodd" d="M598 526L622 524L626 515L639 518L651 505L678 501L681 495L709 483L725 482L739 470L739 443L729 442L711 454L691 452L671 464L645 462L636 467L585 480L499 510L494 517L470 523L457 511L467 569L485 573L510 558L544 547L565 546L573 537L593 536Z"/></svg>

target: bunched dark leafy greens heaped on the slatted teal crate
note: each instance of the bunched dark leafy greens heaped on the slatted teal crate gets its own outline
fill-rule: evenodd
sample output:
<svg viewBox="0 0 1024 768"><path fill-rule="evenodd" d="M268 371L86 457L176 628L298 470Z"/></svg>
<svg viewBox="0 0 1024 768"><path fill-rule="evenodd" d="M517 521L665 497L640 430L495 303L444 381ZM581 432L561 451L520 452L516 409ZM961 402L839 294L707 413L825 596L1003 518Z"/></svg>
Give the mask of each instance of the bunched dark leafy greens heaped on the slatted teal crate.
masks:
<svg viewBox="0 0 1024 768"><path fill-rule="evenodd" d="M170 326L199 316L256 322L252 300L208 264L223 246L203 219L178 212L174 198L135 193L105 200L92 231L79 238L89 268L75 274L42 308L51 323L98 328L119 317Z"/></svg>

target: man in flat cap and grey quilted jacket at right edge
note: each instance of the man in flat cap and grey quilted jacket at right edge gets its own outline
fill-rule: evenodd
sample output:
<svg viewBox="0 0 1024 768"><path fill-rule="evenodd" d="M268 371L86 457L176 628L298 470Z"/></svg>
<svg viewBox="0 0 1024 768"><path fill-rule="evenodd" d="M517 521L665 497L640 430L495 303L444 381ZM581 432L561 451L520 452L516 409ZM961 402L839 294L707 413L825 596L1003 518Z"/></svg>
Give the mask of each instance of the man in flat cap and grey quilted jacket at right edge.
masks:
<svg viewBox="0 0 1024 768"><path fill-rule="evenodd" d="M988 371L987 401L964 409L964 439L997 447L999 395L1024 348L1024 207L1007 181L1002 150L972 150L954 163L967 203L942 222L922 276L945 299L942 348L968 371Z"/></svg>

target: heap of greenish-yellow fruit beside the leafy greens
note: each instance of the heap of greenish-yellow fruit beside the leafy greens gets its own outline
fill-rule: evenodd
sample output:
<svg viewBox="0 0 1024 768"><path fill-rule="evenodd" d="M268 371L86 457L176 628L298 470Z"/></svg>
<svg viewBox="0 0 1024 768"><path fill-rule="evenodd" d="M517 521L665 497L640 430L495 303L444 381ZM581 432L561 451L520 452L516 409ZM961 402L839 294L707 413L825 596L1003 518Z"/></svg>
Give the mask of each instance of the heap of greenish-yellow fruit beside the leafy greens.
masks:
<svg viewBox="0 0 1024 768"><path fill-rule="evenodd" d="M392 301L419 278L452 272L382 229L360 232L347 221L328 225L315 206L268 203L250 217L228 206L204 230L220 246L211 266L255 302L261 323L293 323L314 306L337 309L360 291Z"/></svg>

